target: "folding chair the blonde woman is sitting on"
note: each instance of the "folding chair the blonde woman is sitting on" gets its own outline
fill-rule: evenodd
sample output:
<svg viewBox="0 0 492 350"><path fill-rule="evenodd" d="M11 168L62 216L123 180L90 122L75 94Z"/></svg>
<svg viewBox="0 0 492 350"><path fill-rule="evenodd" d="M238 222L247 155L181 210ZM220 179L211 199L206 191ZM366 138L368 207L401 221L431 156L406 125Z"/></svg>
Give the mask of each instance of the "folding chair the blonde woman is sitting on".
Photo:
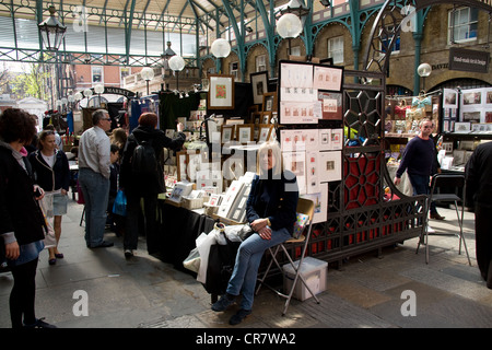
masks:
<svg viewBox="0 0 492 350"><path fill-rule="evenodd" d="M309 237L311 237L311 231L313 228L313 214L314 214L314 202L309 199L304 199L304 198L300 198L298 202L297 202L297 212L298 213L304 213L306 215L309 217L306 226L304 228L304 232L303 234L298 237L298 238L290 238L288 241L285 241L284 243L281 243L279 245L276 245L271 248L269 248L270 254L271 254L271 259L270 262L268 264L267 270L265 271L265 273L262 275L261 278L258 278L258 288L256 290L256 294L258 294L259 290L261 289L261 285L265 284L267 285L269 289L271 289L273 292L276 292L278 295L286 299L285 301L285 305L283 307L283 312L282 312L282 316L285 315L289 304L291 303L291 299L292 295L294 293L295 290L295 284L297 283L297 280L301 280L302 283L306 287L306 289L309 291L311 295L313 295L313 298L316 300L316 303L319 304L319 300L318 298L315 295L315 293L313 293L313 291L311 290L311 287L306 283L306 280L304 279L304 277L301 275L301 268L303 265L303 260L304 260L304 256L306 254L307 250L307 246L309 244ZM302 248L302 254L301 254L301 258L298 260L298 265L295 266L294 261L292 260L292 257L290 256L286 246L290 244L295 244L295 243L301 243L303 242L303 248ZM268 273L270 272L270 269L272 267L272 264L274 262L277 265L277 267L279 268L279 270L282 272L282 275L285 278L285 272L283 271L282 267L279 264L279 260L277 259L277 254L279 253L279 250L282 249L283 253L285 254L285 256L289 259L289 262L291 264L291 266L294 269L295 272L295 277L294 277L294 281L292 283L291 290L290 291L283 291L284 293L278 291L277 289L268 285L267 283L265 283L265 280L268 277Z"/></svg>

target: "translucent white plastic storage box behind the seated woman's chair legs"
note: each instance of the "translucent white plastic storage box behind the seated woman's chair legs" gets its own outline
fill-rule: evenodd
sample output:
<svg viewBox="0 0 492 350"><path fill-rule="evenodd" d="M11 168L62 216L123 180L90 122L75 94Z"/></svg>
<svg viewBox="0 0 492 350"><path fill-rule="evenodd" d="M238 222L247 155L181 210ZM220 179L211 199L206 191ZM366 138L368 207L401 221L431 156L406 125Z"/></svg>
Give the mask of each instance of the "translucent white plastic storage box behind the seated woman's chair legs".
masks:
<svg viewBox="0 0 492 350"><path fill-rule="evenodd" d="M294 265L297 267L298 260L294 261ZM292 283L294 282L295 271L291 264L285 264L282 268L285 272L283 278L283 291L284 293L289 293ZM328 262L312 258L311 256L304 258L303 266L301 267L301 275L315 294L319 294L326 290L327 271ZM301 281L301 277L297 278L293 296L300 301L312 298L309 291Z"/></svg>

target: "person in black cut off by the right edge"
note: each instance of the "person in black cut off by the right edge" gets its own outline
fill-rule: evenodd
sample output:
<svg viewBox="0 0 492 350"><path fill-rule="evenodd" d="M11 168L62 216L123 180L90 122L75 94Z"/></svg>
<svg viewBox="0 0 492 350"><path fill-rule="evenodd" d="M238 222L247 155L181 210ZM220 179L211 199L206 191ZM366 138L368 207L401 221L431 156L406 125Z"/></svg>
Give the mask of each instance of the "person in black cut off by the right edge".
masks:
<svg viewBox="0 0 492 350"><path fill-rule="evenodd" d="M492 289L492 142L479 144L465 167L466 202L475 208L477 265Z"/></svg>

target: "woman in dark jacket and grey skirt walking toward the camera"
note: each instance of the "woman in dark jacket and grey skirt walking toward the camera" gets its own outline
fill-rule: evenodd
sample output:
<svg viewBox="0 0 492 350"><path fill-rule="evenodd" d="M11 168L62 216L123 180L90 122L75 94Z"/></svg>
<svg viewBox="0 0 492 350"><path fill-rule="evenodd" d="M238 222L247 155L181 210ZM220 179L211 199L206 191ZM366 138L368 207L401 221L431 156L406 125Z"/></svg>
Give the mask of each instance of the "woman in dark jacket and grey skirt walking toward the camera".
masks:
<svg viewBox="0 0 492 350"><path fill-rule="evenodd" d="M52 218L57 246L48 248L49 265L55 265L63 254L58 250L61 236L61 218L67 213L68 190L70 187L70 166L65 152L56 145L55 131L43 130L39 133L38 150L30 154L35 182L47 196L52 198ZM51 201L51 199L50 199Z"/></svg>

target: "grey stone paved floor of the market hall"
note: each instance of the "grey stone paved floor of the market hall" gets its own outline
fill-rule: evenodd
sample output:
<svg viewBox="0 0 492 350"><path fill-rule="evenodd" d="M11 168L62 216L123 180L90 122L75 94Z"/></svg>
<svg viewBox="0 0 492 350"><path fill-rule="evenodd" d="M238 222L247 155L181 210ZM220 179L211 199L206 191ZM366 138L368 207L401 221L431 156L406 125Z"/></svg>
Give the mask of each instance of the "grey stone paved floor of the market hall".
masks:
<svg viewBox="0 0 492 350"><path fill-rule="evenodd" d="M189 273L149 256L144 249L126 260L121 238L106 249L87 249L79 225L82 207L72 202L63 217L60 252L66 256L48 265L43 252L38 264L36 313L60 328L194 328L231 329L225 313L210 310L210 295ZM431 220L437 233L456 230L454 211L440 209L445 222ZM430 236L430 264L424 247L415 255L417 238L383 250L348 259L341 270L330 268L320 304L293 300L281 316L283 300L268 289L255 300L254 313L235 328L490 328L492 290L481 281L475 258L473 214L466 212L465 236L472 266L458 255L455 236ZM144 247L144 242L141 242ZM0 273L0 328L10 327L8 310L12 277ZM89 315L73 308L84 291ZM414 316L403 316L406 291L414 293ZM403 295L403 296L402 296Z"/></svg>

